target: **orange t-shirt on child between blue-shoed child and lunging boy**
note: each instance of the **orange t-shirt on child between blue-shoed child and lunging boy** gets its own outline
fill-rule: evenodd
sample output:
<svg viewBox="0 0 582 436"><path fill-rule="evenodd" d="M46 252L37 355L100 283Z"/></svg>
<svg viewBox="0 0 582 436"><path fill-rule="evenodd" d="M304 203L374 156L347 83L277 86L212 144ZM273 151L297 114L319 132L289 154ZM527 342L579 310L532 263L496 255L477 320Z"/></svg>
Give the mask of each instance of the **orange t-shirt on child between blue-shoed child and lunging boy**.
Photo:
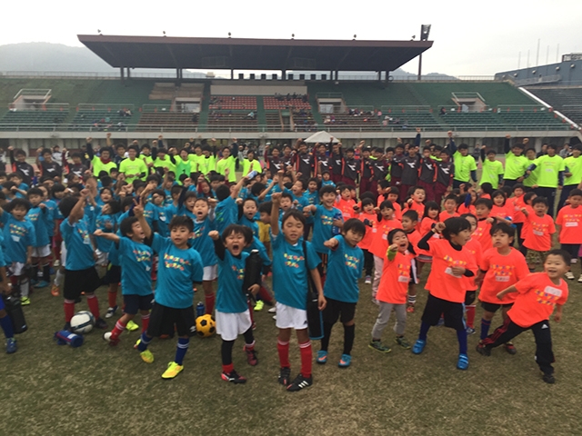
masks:
<svg viewBox="0 0 582 436"><path fill-rule="evenodd" d="M499 254L497 248L488 249L483 253L479 268L487 271L479 292L479 301L493 304L514 302L517 297L515 292L507 293L502 300L497 298L497 293L513 286L529 274L526 258L513 247L506 256Z"/></svg>

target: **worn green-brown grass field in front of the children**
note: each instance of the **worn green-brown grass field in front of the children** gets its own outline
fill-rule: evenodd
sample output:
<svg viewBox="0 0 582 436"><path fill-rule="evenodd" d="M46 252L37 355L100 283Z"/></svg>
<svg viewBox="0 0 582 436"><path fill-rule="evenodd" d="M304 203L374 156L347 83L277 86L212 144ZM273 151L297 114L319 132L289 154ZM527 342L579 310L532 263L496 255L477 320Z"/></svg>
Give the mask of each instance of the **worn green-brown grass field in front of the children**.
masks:
<svg viewBox="0 0 582 436"><path fill-rule="evenodd" d="M417 310L408 316L411 341L426 301L425 280L426 272ZM235 366L246 385L220 379L216 336L193 338L185 371L164 381L160 376L174 358L176 340L152 342L156 362L150 365L133 349L138 332L125 332L116 348L101 339L101 331L87 334L80 348L58 346L52 337L63 325L62 298L35 291L25 307L30 329L17 338L18 352L0 357L0 434L582 434L582 284L570 282L564 320L552 324L555 385L541 381L531 332L517 337L517 355L496 349L489 358L475 352L478 332L470 336L467 372L455 368L456 333L445 327L431 329L419 356L396 348L391 329L383 340L395 345L393 351L372 351L367 342L377 309L371 287L362 282L360 290L352 366L336 365L343 342L337 324L329 362L314 363L314 385L296 393L276 382L276 327L266 310L256 314L256 367L246 364L242 338L236 342ZM105 288L97 295L105 311ZM85 301L77 305L85 308ZM477 308L477 327L480 313ZM496 318L493 325L499 323ZM291 362L295 377L296 342Z"/></svg>

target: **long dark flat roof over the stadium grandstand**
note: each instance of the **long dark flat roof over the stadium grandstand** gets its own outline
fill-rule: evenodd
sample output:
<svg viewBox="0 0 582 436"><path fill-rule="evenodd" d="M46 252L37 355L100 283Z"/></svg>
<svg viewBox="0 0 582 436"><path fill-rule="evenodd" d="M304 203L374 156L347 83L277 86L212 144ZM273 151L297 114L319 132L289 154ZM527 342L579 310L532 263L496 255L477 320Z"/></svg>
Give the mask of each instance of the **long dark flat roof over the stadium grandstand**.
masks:
<svg viewBox="0 0 582 436"><path fill-rule="evenodd" d="M432 41L186 38L77 35L114 67L394 71Z"/></svg>

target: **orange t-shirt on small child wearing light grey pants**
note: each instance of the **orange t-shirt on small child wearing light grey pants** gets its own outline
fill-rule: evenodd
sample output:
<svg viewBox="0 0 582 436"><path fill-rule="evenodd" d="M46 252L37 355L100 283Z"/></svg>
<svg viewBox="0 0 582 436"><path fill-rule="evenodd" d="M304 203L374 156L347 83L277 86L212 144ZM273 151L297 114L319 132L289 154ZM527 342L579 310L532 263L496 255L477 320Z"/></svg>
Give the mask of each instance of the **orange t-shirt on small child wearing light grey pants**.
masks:
<svg viewBox="0 0 582 436"><path fill-rule="evenodd" d="M378 285L376 299L392 304L406 304L408 282L410 282L410 263L414 259L411 253L396 253L394 260L384 259L382 278Z"/></svg>

